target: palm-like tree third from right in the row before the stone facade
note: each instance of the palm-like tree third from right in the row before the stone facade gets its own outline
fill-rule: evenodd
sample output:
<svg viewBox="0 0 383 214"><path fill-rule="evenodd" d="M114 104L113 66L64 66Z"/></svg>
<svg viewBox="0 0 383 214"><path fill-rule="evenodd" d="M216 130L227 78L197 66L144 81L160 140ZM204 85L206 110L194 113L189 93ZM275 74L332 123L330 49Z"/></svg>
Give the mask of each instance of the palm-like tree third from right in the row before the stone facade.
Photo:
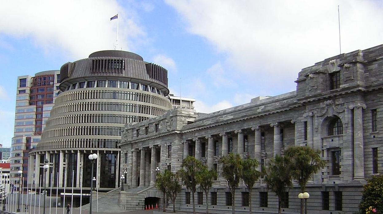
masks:
<svg viewBox="0 0 383 214"><path fill-rule="evenodd" d="M260 172L257 170L258 161L252 158L247 158L242 161L241 178L244 181L247 189L249 189L249 213L251 214L251 193L254 183L258 181Z"/></svg>

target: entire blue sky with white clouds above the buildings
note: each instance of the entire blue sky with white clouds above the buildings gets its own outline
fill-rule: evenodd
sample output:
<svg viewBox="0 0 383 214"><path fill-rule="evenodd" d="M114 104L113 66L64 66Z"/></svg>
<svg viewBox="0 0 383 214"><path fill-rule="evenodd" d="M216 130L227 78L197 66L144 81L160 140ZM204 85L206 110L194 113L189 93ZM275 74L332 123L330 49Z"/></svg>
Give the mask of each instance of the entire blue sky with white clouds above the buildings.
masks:
<svg viewBox="0 0 383 214"><path fill-rule="evenodd" d="M0 8L0 142L10 145L16 78L94 51L132 51L169 70L172 93L212 112L295 90L297 73L383 43L381 1L7 1ZM180 88L180 78L182 87Z"/></svg>

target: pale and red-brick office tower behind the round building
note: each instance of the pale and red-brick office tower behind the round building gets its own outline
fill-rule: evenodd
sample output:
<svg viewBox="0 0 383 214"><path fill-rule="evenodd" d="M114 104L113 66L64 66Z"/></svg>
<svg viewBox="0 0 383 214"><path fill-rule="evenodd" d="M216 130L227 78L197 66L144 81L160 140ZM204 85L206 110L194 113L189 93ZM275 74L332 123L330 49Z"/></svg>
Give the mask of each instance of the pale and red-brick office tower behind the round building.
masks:
<svg viewBox="0 0 383 214"><path fill-rule="evenodd" d="M17 77L15 132L11 143L11 180L18 180L23 170L26 179L28 152L36 147L57 96L59 70Z"/></svg>

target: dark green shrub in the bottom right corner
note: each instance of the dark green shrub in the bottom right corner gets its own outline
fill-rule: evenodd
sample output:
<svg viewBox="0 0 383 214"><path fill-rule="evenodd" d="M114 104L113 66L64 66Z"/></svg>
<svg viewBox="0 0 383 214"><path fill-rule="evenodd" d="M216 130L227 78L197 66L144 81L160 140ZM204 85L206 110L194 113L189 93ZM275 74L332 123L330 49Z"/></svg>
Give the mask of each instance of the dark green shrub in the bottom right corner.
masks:
<svg viewBox="0 0 383 214"><path fill-rule="evenodd" d="M360 213L369 213L369 207L375 208L376 214L383 214L383 175L373 176L363 186Z"/></svg>

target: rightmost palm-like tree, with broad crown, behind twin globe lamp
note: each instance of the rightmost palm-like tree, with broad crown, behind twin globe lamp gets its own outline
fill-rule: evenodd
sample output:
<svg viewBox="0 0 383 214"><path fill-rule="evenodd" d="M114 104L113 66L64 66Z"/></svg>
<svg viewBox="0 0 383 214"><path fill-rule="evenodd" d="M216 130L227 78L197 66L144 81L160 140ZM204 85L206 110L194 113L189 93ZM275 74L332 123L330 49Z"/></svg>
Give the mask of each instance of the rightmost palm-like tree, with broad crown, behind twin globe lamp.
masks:
<svg viewBox="0 0 383 214"><path fill-rule="evenodd" d="M291 160L291 175L298 181L302 193L307 181L326 165L320 156L321 152L310 147L293 146L286 149L284 154ZM303 200L301 200L301 214L303 214Z"/></svg>

